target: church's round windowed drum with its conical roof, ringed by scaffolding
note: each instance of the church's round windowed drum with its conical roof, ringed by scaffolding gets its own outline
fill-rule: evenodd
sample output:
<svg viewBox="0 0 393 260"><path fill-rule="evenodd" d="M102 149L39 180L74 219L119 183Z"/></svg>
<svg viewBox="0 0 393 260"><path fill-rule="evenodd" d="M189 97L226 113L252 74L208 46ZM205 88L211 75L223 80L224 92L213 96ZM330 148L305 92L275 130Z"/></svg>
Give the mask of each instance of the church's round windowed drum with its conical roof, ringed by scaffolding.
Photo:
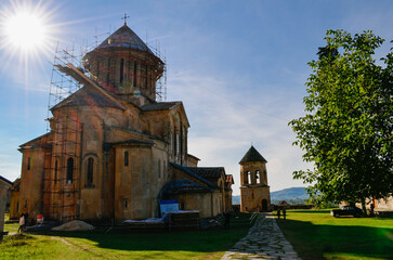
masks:
<svg viewBox="0 0 393 260"><path fill-rule="evenodd" d="M88 52L83 66L103 88L130 102L140 96L155 101L156 82L165 72L165 63L127 24Z"/></svg>

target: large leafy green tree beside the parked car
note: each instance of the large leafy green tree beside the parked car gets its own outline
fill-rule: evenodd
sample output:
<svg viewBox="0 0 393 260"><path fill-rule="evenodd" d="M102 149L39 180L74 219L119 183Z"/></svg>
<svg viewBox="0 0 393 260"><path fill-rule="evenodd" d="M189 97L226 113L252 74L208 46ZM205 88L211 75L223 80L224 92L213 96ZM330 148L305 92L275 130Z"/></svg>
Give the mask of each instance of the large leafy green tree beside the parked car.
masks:
<svg viewBox="0 0 393 260"><path fill-rule="evenodd" d="M315 202L362 203L393 191L393 53L371 31L328 30L306 86L305 116L289 122L313 169L294 171ZM392 50L392 49L391 49Z"/></svg>

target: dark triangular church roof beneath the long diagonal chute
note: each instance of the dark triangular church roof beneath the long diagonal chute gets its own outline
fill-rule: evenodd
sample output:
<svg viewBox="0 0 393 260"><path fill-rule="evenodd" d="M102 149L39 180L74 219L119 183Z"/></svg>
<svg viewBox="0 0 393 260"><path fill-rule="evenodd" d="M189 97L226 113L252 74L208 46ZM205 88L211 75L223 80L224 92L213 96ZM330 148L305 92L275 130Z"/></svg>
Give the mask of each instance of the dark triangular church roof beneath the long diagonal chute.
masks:
<svg viewBox="0 0 393 260"><path fill-rule="evenodd" d="M75 92L73 95L65 99L57 107L69 107L69 106L101 106L101 107L113 107L122 109L112 100L93 91L88 91L86 87L80 91Z"/></svg>

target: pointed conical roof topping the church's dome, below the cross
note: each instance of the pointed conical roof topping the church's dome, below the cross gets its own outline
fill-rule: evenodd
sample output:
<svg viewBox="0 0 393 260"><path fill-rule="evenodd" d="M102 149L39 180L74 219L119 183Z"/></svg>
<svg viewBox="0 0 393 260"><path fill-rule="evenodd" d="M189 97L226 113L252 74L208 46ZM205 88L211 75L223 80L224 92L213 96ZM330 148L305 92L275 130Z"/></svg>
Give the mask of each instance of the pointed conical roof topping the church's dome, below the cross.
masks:
<svg viewBox="0 0 393 260"><path fill-rule="evenodd" d="M146 51L154 54L150 49L141 40L141 38L130 29L126 24L121 26L118 30L106 38L97 48L131 48L140 51Z"/></svg>

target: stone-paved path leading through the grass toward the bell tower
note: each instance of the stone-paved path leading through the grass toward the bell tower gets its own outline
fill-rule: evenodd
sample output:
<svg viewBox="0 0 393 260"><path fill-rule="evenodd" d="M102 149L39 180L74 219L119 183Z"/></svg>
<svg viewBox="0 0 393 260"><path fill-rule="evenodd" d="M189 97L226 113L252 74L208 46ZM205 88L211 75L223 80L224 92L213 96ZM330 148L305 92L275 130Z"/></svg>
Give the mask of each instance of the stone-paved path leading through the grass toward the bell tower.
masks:
<svg viewBox="0 0 393 260"><path fill-rule="evenodd" d="M247 236L225 252L221 260L232 259L297 259L298 253L279 230L273 214L259 214Z"/></svg>

